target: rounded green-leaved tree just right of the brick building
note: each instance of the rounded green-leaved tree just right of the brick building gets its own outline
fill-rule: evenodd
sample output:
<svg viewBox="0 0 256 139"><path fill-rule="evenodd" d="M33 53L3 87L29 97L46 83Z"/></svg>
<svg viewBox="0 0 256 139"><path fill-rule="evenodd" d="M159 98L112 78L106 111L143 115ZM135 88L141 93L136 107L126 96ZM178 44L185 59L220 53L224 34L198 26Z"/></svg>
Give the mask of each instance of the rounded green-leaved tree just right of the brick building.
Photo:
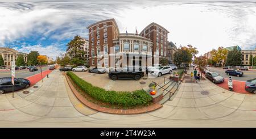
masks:
<svg viewBox="0 0 256 139"><path fill-rule="evenodd" d="M187 49L179 48L176 53L174 53L174 62L177 65L185 64L186 71L187 65L192 62L192 54L189 53Z"/></svg>

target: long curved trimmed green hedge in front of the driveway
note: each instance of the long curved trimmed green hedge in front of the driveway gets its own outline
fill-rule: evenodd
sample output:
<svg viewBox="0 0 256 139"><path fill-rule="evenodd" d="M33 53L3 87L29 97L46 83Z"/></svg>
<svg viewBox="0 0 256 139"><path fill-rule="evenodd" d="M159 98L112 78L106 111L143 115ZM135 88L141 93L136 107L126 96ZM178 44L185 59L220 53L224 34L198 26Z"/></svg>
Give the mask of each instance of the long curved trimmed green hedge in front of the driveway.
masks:
<svg viewBox="0 0 256 139"><path fill-rule="evenodd" d="M134 107L146 106L152 101L150 95L143 90L136 90L133 92L126 91L106 91L100 87L93 86L92 84L77 77L76 74L68 72L67 75L80 87L86 94L92 96L96 100L114 104L121 107Z"/></svg>

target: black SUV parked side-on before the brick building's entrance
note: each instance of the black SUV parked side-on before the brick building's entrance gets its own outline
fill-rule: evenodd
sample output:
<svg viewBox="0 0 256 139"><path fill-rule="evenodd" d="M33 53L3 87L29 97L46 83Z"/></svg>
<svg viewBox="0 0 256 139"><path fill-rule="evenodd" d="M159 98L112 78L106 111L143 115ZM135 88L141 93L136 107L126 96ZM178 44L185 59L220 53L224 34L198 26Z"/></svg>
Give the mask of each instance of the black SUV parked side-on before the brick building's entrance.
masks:
<svg viewBox="0 0 256 139"><path fill-rule="evenodd" d="M112 80L117 80L117 79L135 79L138 81L141 79L141 77L144 76L143 71L110 71L109 72L109 78Z"/></svg>

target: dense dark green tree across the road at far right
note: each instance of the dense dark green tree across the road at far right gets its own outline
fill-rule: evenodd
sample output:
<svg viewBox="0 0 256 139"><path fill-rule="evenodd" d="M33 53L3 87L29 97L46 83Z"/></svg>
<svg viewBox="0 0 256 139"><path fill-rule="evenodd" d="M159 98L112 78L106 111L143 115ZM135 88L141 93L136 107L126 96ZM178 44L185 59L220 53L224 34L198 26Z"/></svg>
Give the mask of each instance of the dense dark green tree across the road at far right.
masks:
<svg viewBox="0 0 256 139"><path fill-rule="evenodd" d="M242 52L234 48L228 52L228 57L226 58L226 65L238 66L242 63Z"/></svg>

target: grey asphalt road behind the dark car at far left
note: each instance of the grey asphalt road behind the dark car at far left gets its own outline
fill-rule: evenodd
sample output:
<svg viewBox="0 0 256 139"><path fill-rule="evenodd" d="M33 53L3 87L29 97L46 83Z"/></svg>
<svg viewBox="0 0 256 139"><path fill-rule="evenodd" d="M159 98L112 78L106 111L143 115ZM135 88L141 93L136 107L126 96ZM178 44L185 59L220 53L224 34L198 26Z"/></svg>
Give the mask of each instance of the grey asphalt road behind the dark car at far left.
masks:
<svg viewBox="0 0 256 139"><path fill-rule="evenodd" d="M47 69L49 69L48 66L42 67L42 71ZM38 71L29 71L28 69L15 70L15 78L27 78L38 73L40 73L40 67L38 67ZM11 77L11 71L0 71L0 78L2 77Z"/></svg>

